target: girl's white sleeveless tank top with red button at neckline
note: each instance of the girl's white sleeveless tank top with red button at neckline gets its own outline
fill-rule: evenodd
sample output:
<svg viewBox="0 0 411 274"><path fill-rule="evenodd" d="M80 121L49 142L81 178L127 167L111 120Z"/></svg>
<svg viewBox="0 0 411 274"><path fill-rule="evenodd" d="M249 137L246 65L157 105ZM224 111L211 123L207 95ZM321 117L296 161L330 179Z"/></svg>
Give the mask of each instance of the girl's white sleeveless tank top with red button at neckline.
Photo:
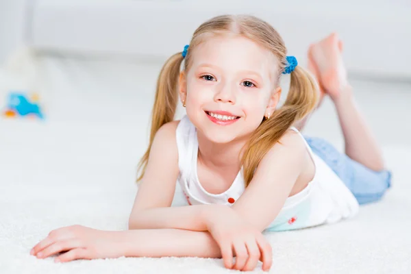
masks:
<svg viewBox="0 0 411 274"><path fill-rule="evenodd" d="M358 212L358 202L340 178L314 154L308 143L308 152L315 165L314 178L308 186L296 195L286 199L286 203L266 231L282 231L312 227L324 223L335 223L347 219ZM237 174L232 185L225 192L212 194L207 192L197 176L197 157L199 151L197 129L188 116L179 122L176 131L179 177L173 200L173 206L220 203L232 206L245 191L242 170Z"/></svg>

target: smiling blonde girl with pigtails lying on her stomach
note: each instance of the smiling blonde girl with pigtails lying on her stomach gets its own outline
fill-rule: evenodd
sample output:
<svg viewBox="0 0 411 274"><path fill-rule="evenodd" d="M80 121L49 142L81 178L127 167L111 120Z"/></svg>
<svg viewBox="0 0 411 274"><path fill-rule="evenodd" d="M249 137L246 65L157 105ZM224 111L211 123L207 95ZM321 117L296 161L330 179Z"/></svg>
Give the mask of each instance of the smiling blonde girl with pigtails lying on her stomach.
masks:
<svg viewBox="0 0 411 274"><path fill-rule="evenodd" d="M335 34L310 47L319 92L268 23L253 16L203 23L158 78L129 230L63 227L32 255L67 251L56 262L222 257L228 269L249 271L261 260L268 270L271 246L263 231L334 223L354 216L358 203L377 201L390 173L353 99L341 49ZM288 73L290 90L280 107L279 78ZM301 129L323 92L338 112L345 154L303 138L295 127ZM177 101L187 112L181 121L173 121ZM185 203L171 207L179 195Z"/></svg>

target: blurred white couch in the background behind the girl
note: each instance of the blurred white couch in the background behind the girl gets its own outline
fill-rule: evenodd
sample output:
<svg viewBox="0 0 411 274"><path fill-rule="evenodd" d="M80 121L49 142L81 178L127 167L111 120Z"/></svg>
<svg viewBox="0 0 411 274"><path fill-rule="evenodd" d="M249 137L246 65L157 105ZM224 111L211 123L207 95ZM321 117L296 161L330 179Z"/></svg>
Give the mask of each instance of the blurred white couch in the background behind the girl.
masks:
<svg viewBox="0 0 411 274"><path fill-rule="evenodd" d="M221 13L264 18L302 64L310 42L336 31L352 75L411 77L411 5L383 0L4 0L0 62L21 46L164 60L182 50L199 23Z"/></svg>

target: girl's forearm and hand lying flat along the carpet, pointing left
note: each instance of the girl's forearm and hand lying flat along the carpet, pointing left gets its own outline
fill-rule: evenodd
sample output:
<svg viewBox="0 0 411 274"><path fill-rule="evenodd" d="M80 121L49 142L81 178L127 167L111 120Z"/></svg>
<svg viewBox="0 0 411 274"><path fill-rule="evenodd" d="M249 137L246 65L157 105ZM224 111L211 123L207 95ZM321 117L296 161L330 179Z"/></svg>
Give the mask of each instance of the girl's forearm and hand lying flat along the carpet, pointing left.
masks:
<svg viewBox="0 0 411 274"><path fill-rule="evenodd" d="M30 251L47 258L62 251L55 261L127 257L220 258L216 241L208 232L181 229L134 229L104 231L82 225L60 227L50 232Z"/></svg>

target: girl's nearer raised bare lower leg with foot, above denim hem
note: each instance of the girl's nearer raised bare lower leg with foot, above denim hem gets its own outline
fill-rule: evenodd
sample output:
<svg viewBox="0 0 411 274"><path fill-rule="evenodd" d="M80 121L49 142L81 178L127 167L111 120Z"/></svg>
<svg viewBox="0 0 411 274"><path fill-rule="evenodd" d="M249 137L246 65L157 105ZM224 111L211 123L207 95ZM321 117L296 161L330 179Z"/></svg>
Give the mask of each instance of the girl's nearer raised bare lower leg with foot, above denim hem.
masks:
<svg viewBox="0 0 411 274"><path fill-rule="evenodd" d="M310 53L319 72L319 82L336 106L345 138L345 153L369 169L381 171L384 169L381 149L353 97L341 49L337 35L331 34L312 45Z"/></svg>

